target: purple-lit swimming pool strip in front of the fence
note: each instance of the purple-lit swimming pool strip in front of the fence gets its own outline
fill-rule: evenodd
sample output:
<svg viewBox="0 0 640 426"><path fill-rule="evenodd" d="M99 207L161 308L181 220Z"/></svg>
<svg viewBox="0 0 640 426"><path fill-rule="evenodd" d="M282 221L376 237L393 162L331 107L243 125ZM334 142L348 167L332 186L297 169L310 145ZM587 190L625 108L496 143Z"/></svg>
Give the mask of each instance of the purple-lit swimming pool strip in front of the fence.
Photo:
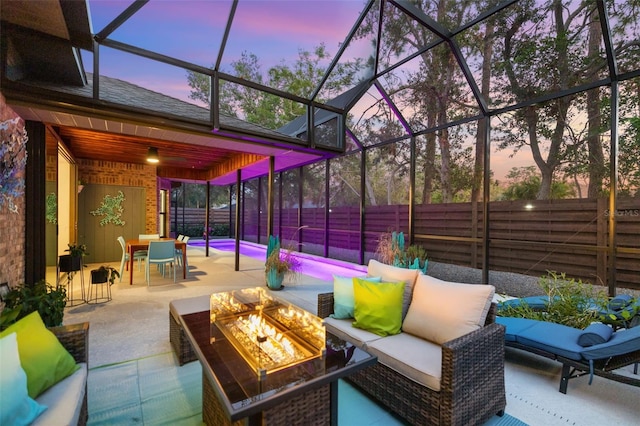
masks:
<svg viewBox="0 0 640 426"><path fill-rule="evenodd" d="M204 241L189 241L189 245L204 247ZM233 252L235 251L236 244L234 240L209 240L209 247L220 251ZM241 241L240 254L258 260L265 260L267 247L261 244ZM294 256L300 260L300 273L324 281L333 281L333 275L355 277L367 273L366 266L343 262L341 260L298 252L295 252Z"/></svg>

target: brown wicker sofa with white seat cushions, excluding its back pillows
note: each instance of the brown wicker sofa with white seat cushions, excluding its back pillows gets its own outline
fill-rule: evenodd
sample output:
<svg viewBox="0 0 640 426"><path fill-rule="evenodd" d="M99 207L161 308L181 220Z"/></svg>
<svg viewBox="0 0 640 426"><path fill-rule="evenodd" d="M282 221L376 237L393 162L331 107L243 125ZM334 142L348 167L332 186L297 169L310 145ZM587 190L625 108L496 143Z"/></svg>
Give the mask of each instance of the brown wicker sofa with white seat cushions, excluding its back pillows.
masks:
<svg viewBox="0 0 640 426"><path fill-rule="evenodd" d="M318 316L325 318L327 332L378 356L375 366L348 379L410 424L483 424L496 414L504 414L504 328L495 323L495 303L490 303L484 326L441 345L405 332L387 337L367 335L350 320L327 318L334 305L334 293L318 295ZM416 357L416 353L422 355ZM426 360L425 353L430 354ZM416 358L425 365L416 366ZM427 365L431 361L440 366ZM440 373L437 383L433 378L425 379L424 371L436 371L436 376Z"/></svg>

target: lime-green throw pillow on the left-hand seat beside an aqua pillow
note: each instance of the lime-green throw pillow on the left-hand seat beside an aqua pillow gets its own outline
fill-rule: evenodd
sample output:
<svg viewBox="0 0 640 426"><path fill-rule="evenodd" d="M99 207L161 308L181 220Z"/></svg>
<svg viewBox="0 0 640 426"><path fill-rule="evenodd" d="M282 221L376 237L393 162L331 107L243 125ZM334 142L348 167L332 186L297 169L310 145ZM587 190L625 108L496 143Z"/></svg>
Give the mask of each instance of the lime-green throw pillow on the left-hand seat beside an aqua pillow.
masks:
<svg viewBox="0 0 640 426"><path fill-rule="evenodd" d="M10 325L0 337L11 333L17 334L20 364L27 374L31 398L37 398L79 368L55 334L47 330L37 311Z"/></svg>

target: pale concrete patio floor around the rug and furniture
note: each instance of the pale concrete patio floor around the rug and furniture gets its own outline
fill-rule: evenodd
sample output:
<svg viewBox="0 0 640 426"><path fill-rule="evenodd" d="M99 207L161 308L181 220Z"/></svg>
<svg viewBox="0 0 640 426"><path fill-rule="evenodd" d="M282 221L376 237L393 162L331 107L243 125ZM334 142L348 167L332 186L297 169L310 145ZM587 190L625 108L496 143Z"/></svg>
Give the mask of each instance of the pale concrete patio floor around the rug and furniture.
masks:
<svg viewBox="0 0 640 426"><path fill-rule="evenodd" d="M169 344L169 302L174 299L207 295L214 292L264 285L263 262L242 256L240 270L234 271L234 255L203 247L188 248L189 274L174 284L152 272L147 286L144 269L134 266L133 285L125 271L122 282L112 286L113 300L102 304L81 304L65 310L64 323L90 322L89 367L97 367L171 351ZM85 286L89 271L85 268ZM118 263L111 266L119 268ZM47 275L55 283L55 271ZM318 293L332 291L333 283L300 275L295 282L285 282L285 289L275 296L286 299L310 312L316 311ZM74 282L80 297L80 278ZM595 377L573 379L566 395L558 392L560 364L517 350L507 350L505 382L506 411L530 425L602 425L638 424L640 388ZM632 374L631 368L625 374Z"/></svg>

